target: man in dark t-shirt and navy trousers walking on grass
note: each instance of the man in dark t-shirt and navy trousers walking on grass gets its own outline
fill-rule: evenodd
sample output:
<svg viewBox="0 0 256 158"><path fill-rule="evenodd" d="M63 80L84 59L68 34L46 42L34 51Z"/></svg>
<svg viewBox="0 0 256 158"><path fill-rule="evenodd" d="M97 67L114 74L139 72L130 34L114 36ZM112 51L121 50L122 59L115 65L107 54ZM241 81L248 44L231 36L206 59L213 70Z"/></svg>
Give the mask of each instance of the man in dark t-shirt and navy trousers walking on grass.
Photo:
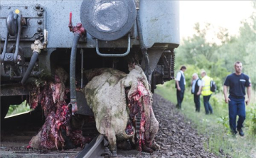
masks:
<svg viewBox="0 0 256 158"><path fill-rule="evenodd" d="M228 94L229 87L229 96ZM248 99L245 101L245 87L247 87ZM245 121L245 103L250 103L250 79L246 74L242 74L242 63L235 62L235 73L228 75L225 79L223 92L225 102L228 103L230 129L233 135L239 132L243 136L242 123ZM236 116L238 118L238 126L236 126ZM237 130L235 130L237 128Z"/></svg>

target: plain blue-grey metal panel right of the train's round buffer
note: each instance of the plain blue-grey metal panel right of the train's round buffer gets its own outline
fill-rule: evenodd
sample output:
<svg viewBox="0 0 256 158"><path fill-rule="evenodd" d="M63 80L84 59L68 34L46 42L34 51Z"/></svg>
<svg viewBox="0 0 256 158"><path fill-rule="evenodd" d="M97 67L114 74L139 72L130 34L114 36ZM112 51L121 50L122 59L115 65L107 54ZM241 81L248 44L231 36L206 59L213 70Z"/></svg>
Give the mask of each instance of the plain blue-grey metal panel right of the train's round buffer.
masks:
<svg viewBox="0 0 256 158"><path fill-rule="evenodd" d="M146 47L154 43L179 45L179 1L140 0L139 13Z"/></svg>

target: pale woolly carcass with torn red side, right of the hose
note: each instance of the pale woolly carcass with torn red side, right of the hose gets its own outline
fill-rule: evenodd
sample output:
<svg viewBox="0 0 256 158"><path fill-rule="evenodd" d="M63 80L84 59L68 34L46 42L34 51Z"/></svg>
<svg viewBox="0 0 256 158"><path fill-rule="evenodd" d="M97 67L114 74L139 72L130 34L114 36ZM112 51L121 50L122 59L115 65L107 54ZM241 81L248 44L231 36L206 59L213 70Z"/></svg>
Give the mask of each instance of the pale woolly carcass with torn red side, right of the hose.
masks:
<svg viewBox="0 0 256 158"><path fill-rule="evenodd" d="M117 150L117 140L139 144L139 150L153 152L158 148L154 135L159 129L151 103L152 94L146 76L139 66L124 74L117 69L93 69L85 73L87 104L95 115L97 130L107 137L110 150ZM136 115L141 113L139 140L135 137Z"/></svg>

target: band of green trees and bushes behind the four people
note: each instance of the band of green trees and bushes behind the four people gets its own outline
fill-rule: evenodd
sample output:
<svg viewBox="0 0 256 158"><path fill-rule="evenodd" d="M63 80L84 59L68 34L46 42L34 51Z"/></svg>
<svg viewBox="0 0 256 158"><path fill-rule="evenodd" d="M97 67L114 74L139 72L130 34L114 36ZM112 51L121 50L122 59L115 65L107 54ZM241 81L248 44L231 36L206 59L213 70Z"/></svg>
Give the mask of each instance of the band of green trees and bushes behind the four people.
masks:
<svg viewBox="0 0 256 158"><path fill-rule="evenodd" d="M218 42L209 41L212 24L200 26L196 23L192 37L183 38L183 43L176 49L176 71L185 64L187 83L191 83L191 75L206 70L213 77L221 91L225 77L234 72L234 63L243 64L243 72L249 75L253 89L256 88L256 1L252 1L254 12L245 21L241 21L240 34L231 36L226 28L219 28L214 33ZM199 75L200 76L200 75ZM188 84L188 86L191 86Z"/></svg>

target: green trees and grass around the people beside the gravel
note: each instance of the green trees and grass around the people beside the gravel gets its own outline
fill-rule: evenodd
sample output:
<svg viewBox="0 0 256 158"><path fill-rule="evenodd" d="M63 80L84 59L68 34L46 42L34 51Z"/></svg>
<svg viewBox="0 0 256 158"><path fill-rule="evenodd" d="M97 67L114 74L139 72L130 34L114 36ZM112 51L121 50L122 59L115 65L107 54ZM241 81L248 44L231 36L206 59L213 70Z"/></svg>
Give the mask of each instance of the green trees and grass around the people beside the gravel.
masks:
<svg viewBox="0 0 256 158"><path fill-rule="evenodd" d="M255 157L256 155L256 1L252 1L254 11L245 21L241 21L239 35L232 36L226 28L219 28L213 35L212 24L205 23L194 26L192 37L183 38L183 43L175 50L176 72L181 65L186 65L186 92L181 113L192 120L195 128L208 136L206 148L220 157ZM228 122L228 104L224 101L223 83L228 74L234 72L234 63L243 64L242 72L250 77L252 82L252 96L250 105L246 107L244 123L245 137L231 137ZM193 95L191 95L191 78L193 73L201 74L206 70L218 86L210 98L213 115L205 115L203 97L201 97L201 112L195 113ZM176 89L174 81L158 85L156 93L176 103ZM220 151L223 151L220 153ZM223 154L224 153L224 154Z"/></svg>

